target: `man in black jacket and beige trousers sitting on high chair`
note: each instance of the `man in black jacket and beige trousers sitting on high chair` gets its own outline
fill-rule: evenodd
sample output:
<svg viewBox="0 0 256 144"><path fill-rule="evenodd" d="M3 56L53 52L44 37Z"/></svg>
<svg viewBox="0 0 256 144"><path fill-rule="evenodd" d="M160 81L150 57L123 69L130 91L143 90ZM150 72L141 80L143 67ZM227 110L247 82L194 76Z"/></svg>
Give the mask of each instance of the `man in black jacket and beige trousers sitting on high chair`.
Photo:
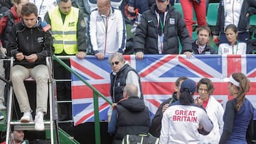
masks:
<svg viewBox="0 0 256 144"><path fill-rule="evenodd" d="M21 16L21 23L14 25L10 34L8 50L15 58L14 67L11 67L11 82L23 113L21 122L29 122L33 121L32 110L23 81L28 77L36 80L35 129L43 131L43 115L47 113L48 105L49 72L46 57L50 56L51 41L41 27L41 18L34 4L24 4Z"/></svg>

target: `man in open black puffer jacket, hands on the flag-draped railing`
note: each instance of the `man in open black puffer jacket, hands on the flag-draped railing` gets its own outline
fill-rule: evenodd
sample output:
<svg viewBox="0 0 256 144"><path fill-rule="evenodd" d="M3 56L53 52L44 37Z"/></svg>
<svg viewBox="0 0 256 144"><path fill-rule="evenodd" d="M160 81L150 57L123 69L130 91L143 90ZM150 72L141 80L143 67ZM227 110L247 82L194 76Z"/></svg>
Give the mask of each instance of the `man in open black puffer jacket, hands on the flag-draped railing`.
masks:
<svg viewBox="0 0 256 144"><path fill-rule="evenodd" d="M178 54L178 38L181 40L181 53L191 57L192 45L186 23L169 1L156 0L156 4L142 14L134 38L138 60L142 60L144 54Z"/></svg>

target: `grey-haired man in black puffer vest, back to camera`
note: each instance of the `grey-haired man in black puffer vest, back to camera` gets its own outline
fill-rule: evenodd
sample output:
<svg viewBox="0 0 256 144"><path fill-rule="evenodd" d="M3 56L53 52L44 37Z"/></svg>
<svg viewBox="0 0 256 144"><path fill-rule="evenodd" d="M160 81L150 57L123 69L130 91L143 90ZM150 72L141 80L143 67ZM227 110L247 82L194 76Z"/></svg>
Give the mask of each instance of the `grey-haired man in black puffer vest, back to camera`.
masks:
<svg viewBox="0 0 256 144"><path fill-rule="evenodd" d="M113 144L121 143L122 138L127 134L138 135L149 131L149 109L143 99L139 99L137 93L136 85L127 84L124 87L124 98L114 106L108 125L108 133L114 135Z"/></svg>

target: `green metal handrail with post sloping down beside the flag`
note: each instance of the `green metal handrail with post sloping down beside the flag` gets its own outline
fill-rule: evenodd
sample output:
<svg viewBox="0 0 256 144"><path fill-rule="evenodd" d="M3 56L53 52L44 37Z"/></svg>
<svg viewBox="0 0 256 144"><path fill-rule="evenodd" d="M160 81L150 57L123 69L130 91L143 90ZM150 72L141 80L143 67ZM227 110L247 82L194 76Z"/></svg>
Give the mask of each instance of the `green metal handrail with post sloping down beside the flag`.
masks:
<svg viewBox="0 0 256 144"><path fill-rule="evenodd" d="M98 96L101 96L102 99L107 101L110 105L112 105L112 101L107 99L103 94L101 94L95 87L92 87L91 84L85 81L80 74L72 70L68 65L65 64L60 58L58 58L56 55L53 55L53 59L60 63L60 65L63 65L65 69L67 69L69 72L75 75L75 77L78 77L84 84L86 84L90 89L93 91L93 104L94 104L94 113L95 113L95 144L100 144L100 112L99 112L99 101Z"/></svg>

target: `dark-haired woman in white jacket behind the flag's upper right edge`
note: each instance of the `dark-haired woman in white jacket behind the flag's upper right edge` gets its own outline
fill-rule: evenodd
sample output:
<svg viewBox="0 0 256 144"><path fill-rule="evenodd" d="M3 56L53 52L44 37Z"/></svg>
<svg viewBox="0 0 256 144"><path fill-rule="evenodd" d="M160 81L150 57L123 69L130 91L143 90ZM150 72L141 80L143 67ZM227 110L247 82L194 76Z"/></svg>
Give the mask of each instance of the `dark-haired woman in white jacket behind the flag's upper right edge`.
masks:
<svg viewBox="0 0 256 144"><path fill-rule="evenodd" d="M247 45L240 42L238 38L238 28L234 24L229 24L225 28L225 36L228 43L221 43L218 48L219 55L243 55L246 54Z"/></svg>

